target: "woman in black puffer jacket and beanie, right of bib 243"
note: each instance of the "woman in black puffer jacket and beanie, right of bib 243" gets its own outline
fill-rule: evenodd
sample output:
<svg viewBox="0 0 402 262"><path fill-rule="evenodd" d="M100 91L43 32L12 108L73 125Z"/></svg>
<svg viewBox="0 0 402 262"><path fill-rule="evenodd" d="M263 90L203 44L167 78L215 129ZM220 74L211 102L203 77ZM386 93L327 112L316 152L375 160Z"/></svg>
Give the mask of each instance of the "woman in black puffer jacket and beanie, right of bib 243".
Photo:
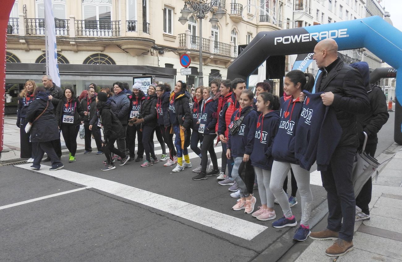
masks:
<svg viewBox="0 0 402 262"><path fill-rule="evenodd" d="M141 165L142 167L152 166L153 163L158 162L158 158L155 156L154 141L151 139L154 129L158 125L156 117L157 96L155 94L155 89L152 90L153 92L148 93L148 97L142 104L141 114L138 118L134 117L129 120L129 125L141 125L142 144L144 145L146 155L146 160Z"/></svg>

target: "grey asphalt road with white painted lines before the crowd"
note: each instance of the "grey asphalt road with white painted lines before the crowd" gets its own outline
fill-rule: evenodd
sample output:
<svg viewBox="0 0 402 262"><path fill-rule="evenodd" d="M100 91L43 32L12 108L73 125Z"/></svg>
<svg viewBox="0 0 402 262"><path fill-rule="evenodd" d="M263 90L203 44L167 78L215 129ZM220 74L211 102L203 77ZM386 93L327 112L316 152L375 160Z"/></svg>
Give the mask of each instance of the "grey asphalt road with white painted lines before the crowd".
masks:
<svg viewBox="0 0 402 262"><path fill-rule="evenodd" d="M377 154L393 143L393 123L390 113ZM272 221L232 211L236 199L215 176L193 181L192 168L172 173L163 162L148 168L128 162L102 172L103 160L103 155L81 153L69 164L63 156L67 171L56 178L43 174L45 167L39 172L1 167L0 261L275 261L294 244L295 228L275 229ZM199 164L197 158L191 161ZM119 188L127 191L119 194ZM311 188L314 209L326 193L321 186ZM51 196L60 192L67 193ZM258 190L254 193L260 203ZM133 195L152 197L133 201ZM43 196L51 197L20 203ZM279 205L275 211L279 218ZM300 204L292 211L299 220ZM208 225L211 217L219 229ZM242 237L242 230L261 225L267 228L252 239ZM240 233L230 233L233 228Z"/></svg>

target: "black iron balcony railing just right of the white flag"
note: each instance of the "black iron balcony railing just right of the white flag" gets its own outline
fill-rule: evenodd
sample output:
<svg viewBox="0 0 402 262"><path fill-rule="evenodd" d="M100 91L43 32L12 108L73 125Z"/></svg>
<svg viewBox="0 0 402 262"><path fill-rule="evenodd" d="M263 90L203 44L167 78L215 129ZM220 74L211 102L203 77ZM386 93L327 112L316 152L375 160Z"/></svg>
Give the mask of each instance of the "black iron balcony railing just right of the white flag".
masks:
<svg viewBox="0 0 402 262"><path fill-rule="evenodd" d="M76 32L87 37L120 36L120 21L75 20Z"/></svg>

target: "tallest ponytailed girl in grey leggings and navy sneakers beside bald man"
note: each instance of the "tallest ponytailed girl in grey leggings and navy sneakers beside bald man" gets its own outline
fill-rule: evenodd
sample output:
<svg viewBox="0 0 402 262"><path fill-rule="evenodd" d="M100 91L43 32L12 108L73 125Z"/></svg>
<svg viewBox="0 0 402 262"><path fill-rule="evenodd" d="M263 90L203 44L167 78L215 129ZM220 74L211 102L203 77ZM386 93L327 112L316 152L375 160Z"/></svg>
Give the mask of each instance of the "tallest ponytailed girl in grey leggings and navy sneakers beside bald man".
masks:
<svg viewBox="0 0 402 262"><path fill-rule="evenodd" d="M293 239L297 241L304 241L310 235L308 218L311 213L313 196L310 189L310 171L300 167L298 160L295 158L294 143L297 121L303 107L299 100L300 92L304 89L310 89L313 85L314 76L312 74L304 73L300 70L293 70L286 74L283 90L288 96L292 97L281 106L281 121L272 147L274 162L269 188L283 211L283 217L273 222L272 226L282 228L297 225L295 216L290 209L289 200L283 190L283 181L291 168L295 174L301 196L300 226L293 235Z"/></svg>

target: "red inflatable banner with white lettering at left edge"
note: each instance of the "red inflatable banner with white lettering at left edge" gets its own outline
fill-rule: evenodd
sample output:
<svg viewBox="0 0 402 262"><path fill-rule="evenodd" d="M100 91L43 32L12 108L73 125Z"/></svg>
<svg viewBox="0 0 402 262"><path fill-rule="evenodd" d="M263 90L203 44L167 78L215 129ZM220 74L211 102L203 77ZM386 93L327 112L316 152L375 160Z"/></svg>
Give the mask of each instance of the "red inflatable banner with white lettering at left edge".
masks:
<svg viewBox="0 0 402 262"><path fill-rule="evenodd" d="M2 12L0 12L0 152L3 151L3 136L4 136L4 103L6 92L6 45L7 45L7 25L8 18L14 0L2 1Z"/></svg>

